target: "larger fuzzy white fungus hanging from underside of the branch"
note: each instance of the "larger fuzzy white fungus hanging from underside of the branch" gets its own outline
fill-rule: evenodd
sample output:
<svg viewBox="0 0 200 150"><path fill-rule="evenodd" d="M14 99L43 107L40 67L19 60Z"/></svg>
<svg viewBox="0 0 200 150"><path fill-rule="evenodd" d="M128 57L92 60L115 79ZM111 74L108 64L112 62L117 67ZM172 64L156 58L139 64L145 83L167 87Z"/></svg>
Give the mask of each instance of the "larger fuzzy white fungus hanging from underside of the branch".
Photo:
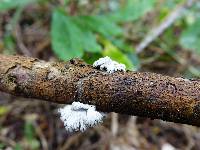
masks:
<svg viewBox="0 0 200 150"><path fill-rule="evenodd" d="M67 131L84 131L102 122L105 114L96 111L94 105L73 102L58 110L60 119L64 122Z"/></svg>

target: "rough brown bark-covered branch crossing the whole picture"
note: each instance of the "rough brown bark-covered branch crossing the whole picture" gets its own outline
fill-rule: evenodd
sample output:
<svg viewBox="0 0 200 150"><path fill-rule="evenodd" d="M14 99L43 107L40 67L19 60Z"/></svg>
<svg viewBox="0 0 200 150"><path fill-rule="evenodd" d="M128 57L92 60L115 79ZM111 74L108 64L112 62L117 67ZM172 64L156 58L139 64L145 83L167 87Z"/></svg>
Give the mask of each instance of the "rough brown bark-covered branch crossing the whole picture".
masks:
<svg viewBox="0 0 200 150"><path fill-rule="evenodd" d="M149 72L93 68L78 59L45 62L0 55L0 90L69 104L92 104L103 112L200 126L200 81Z"/></svg>

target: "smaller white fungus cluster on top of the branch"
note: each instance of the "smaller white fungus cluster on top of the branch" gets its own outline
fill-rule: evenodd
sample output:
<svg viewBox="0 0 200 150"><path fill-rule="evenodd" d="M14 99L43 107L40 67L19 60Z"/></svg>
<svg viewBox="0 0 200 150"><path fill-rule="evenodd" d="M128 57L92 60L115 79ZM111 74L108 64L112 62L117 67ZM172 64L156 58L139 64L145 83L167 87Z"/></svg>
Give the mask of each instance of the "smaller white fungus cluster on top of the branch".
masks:
<svg viewBox="0 0 200 150"><path fill-rule="evenodd" d="M115 71L125 71L126 66L124 64L120 64L116 61L110 59L110 57L106 56L104 58L100 58L99 60L93 63L93 67L100 68L100 70L106 70L108 73L113 73Z"/></svg>

